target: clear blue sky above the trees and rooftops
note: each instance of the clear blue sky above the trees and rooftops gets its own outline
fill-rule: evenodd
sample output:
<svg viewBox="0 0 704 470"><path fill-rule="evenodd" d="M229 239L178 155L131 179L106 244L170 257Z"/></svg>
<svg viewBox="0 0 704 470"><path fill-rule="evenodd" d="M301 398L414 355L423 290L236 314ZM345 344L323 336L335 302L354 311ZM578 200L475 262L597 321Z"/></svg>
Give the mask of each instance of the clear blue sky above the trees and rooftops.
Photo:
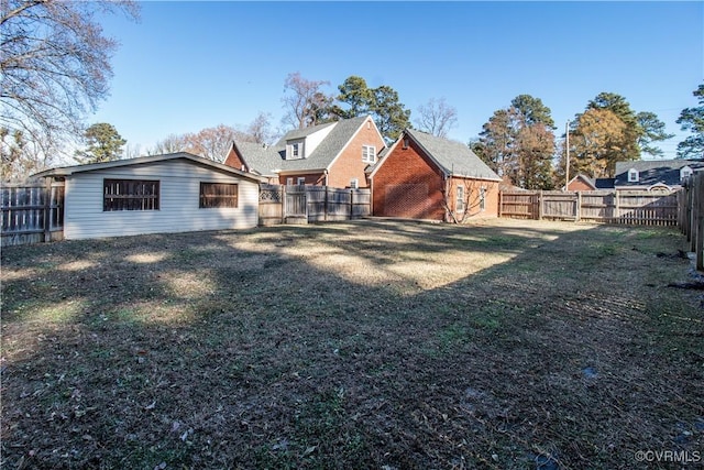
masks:
<svg viewBox="0 0 704 470"><path fill-rule="evenodd" d="M678 136L704 78L703 2L143 2L141 21L105 22L121 46L110 122L142 151L169 133L246 125L284 113L284 79L300 72L337 91L359 75L388 85L417 117L430 98L458 109L452 139L518 95L542 99L564 130L602 91L653 111ZM415 114L415 116L414 116Z"/></svg>

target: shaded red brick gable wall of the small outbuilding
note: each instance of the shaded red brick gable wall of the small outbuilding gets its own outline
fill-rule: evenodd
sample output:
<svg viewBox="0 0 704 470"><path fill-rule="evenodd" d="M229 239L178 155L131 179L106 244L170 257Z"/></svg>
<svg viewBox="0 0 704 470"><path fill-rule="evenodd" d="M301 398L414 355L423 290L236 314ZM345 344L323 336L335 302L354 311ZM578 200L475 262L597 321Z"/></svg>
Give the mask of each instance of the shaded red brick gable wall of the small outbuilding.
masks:
<svg viewBox="0 0 704 470"><path fill-rule="evenodd" d="M444 220L442 175L413 140L408 144L396 145L374 174L373 214Z"/></svg>

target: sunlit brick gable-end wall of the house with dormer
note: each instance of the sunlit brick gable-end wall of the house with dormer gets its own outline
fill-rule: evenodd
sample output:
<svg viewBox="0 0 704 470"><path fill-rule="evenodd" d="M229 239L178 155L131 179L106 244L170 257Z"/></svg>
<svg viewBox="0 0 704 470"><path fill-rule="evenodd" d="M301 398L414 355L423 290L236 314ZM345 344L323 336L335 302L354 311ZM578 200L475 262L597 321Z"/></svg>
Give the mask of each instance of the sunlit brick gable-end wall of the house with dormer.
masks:
<svg viewBox="0 0 704 470"><path fill-rule="evenodd" d="M364 174L364 168L366 168L369 163L362 162L362 145L374 145L377 155L385 146L384 140L378 132L376 132L371 118L362 124L356 135L332 163L328 175L328 186L340 188L350 187L350 181L356 178L360 187L369 187L369 182Z"/></svg>

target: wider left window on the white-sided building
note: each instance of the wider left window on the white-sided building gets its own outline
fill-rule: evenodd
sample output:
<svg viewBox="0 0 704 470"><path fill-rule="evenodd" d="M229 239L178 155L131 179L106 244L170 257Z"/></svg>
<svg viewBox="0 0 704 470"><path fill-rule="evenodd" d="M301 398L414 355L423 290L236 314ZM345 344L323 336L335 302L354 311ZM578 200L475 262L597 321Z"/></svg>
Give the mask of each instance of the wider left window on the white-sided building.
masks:
<svg viewBox="0 0 704 470"><path fill-rule="evenodd" d="M158 210L158 179L103 179L102 210Z"/></svg>

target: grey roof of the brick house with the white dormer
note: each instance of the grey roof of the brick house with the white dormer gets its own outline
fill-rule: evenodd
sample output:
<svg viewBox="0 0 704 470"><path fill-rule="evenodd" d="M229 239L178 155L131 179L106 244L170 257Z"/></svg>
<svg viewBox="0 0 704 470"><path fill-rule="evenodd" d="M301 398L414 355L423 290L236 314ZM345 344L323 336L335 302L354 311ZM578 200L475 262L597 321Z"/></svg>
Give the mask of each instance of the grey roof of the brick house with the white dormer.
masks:
<svg viewBox="0 0 704 470"><path fill-rule="evenodd" d="M330 165L332 165L354 135L362 129L362 125L367 119L371 120L376 132L378 132L374 120L369 116L361 116L359 118L343 119L289 131L270 147L264 147L260 144L252 145L250 142L234 142L234 145L244 164L251 171L262 175L273 176L276 173L286 172L323 171L330 168ZM332 129L329 130L329 133L310 155L297 160L285 159L286 141L302 139L330 127L332 127ZM383 141L383 139L381 140Z"/></svg>

